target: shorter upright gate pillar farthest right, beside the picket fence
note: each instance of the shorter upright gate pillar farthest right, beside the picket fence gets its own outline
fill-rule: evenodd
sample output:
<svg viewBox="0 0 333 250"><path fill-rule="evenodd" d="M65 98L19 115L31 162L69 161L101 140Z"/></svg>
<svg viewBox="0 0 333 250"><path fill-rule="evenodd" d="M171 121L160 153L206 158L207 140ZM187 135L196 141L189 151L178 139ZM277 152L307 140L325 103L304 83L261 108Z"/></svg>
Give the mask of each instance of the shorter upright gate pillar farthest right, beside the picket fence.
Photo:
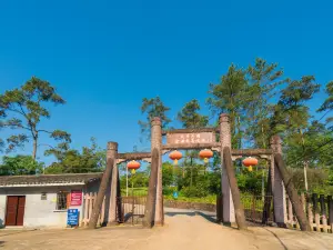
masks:
<svg viewBox="0 0 333 250"><path fill-rule="evenodd" d="M273 151L271 157L271 183L274 203L274 220L280 227L285 227L286 223L286 202L285 202L285 188L282 181L280 171L274 162L275 153L282 154L282 141L279 136L271 138L271 149Z"/></svg>

